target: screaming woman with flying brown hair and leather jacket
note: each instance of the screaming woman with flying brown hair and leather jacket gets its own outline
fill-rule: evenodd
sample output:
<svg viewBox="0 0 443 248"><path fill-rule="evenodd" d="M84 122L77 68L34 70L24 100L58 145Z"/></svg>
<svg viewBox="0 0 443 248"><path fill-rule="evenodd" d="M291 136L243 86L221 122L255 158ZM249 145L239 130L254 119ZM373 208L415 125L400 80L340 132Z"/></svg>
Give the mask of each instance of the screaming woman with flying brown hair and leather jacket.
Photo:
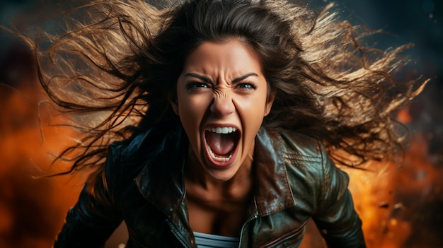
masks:
<svg viewBox="0 0 443 248"><path fill-rule="evenodd" d="M365 247L330 157L401 146L391 113L420 91L391 75L405 47L364 48L328 8L285 1L87 7L57 67L39 59L60 107L108 113L61 155L84 149L69 172L96 170L54 247L103 247L122 220L127 247L298 247L309 218L328 247Z"/></svg>

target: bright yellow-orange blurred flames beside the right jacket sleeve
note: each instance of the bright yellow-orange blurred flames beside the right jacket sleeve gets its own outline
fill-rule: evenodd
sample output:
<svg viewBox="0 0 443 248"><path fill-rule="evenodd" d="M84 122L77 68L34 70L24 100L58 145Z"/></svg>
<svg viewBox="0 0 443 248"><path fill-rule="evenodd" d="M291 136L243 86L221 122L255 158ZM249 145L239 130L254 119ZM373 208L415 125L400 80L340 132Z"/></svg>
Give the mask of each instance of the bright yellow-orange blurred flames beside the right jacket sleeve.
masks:
<svg viewBox="0 0 443 248"><path fill-rule="evenodd" d="M367 247L404 247L411 233L410 223L392 218L391 213L403 207L396 201L397 165L370 162L371 171L347 169L355 209L363 222Z"/></svg>

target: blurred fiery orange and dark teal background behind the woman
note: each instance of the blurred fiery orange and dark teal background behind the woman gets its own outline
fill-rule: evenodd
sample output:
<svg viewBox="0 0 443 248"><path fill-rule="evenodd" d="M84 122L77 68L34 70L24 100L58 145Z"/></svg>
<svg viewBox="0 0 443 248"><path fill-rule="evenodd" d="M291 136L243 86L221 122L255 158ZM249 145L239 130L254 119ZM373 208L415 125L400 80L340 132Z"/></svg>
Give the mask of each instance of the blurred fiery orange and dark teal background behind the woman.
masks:
<svg viewBox="0 0 443 248"><path fill-rule="evenodd" d="M316 11L331 1L297 1ZM4 0L0 24L19 31L79 1ZM374 30L374 46L386 49L413 42L406 76L431 81L398 118L411 130L401 167L372 163L373 172L345 169L368 247L443 247L443 3L439 0L337 0L340 18ZM69 163L51 166L54 155L73 144L38 85L33 57L10 35L0 33L0 247L51 247L64 215L79 194L84 175L42 179ZM127 238L122 225L108 241L117 248ZM303 247L323 247L310 225Z"/></svg>

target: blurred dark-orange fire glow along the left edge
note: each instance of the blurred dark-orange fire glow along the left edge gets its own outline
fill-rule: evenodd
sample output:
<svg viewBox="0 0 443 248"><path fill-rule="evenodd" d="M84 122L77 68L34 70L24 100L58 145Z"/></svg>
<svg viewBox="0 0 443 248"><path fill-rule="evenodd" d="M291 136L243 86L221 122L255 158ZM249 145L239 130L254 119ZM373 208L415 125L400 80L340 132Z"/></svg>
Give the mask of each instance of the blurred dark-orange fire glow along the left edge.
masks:
<svg viewBox="0 0 443 248"><path fill-rule="evenodd" d="M44 95L32 67L23 66L31 62L23 47L5 55L0 71L0 247L51 247L84 179L42 176L69 167L50 164L76 134L52 125L61 119L40 102Z"/></svg>

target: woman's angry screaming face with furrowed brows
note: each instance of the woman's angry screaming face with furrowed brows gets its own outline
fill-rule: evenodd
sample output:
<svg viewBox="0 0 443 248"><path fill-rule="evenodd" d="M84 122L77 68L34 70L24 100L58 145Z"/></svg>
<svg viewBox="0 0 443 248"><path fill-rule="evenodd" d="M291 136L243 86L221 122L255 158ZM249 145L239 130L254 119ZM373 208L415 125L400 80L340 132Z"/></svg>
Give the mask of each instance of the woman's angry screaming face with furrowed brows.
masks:
<svg viewBox="0 0 443 248"><path fill-rule="evenodd" d="M172 105L203 170L227 181L251 165L247 158L272 100L255 51L229 40L203 42L190 53Z"/></svg>

